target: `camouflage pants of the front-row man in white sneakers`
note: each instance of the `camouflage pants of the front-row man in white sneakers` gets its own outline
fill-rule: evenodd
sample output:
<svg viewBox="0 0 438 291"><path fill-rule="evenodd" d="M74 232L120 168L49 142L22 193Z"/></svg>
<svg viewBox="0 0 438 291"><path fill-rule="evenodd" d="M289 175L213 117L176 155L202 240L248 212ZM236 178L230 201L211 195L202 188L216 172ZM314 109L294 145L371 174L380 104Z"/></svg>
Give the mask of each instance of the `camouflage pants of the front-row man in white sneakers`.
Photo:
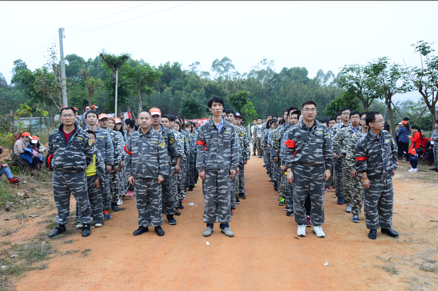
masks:
<svg viewBox="0 0 438 291"><path fill-rule="evenodd" d="M293 212L298 224L307 221L305 198L308 194L310 194L312 224L315 226L324 224L324 171L324 164L294 164L293 166Z"/></svg>

